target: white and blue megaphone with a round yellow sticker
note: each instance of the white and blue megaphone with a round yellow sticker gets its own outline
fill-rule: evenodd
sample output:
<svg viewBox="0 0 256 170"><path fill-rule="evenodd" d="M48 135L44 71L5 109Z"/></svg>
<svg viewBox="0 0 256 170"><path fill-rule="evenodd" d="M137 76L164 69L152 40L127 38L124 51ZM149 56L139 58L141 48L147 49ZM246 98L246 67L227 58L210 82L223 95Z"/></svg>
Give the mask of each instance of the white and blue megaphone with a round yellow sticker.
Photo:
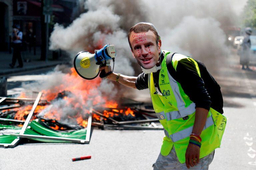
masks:
<svg viewBox="0 0 256 170"><path fill-rule="evenodd" d="M95 50L94 54L88 51L79 52L74 59L74 67L79 76L91 80L99 75L100 66L110 65L111 60L115 62L115 56L115 46L106 44L100 50ZM105 71L102 70L100 77L104 78L111 73L112 71L105 73Z"/></svg>

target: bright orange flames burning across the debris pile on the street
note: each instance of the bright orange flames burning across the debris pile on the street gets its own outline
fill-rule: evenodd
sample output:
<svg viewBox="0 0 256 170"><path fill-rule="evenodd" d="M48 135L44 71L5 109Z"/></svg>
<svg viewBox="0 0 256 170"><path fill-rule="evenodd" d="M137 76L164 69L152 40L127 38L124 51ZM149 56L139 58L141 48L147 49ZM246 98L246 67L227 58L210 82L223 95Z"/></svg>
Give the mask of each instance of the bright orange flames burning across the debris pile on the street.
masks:
<svg viewBox="0 0 256 170"><path fill-rule="evenodd" d="M98 90L102 81L101 78L97 77L93 80L85 80L76 73L74 68L71 68L70 71L71 72L68 74L61 74L62 83L42 90L43 95L41 100L47 100L49 105L38 105L32 119L36 119L35 116L42 113L39 116L45 119L51 119L52 123L72 119L76 121L78 125L86 128L88 124L86 115L89 113L90 106L109 108L110 110L106 109L102 113L107 118L119 115L131 115L135 117L135 114L130 108L118 109L117 102L109 100L108 96L104 96L104 94ZM21 93L19 98L27 98L26 93ZM25 121L31 109L32 105L26 105L11 110L17 111L14 119ZM92 117L94 120L100 121L98 115L93 114ZM45 121L44 119L40 120ZM57 125L55 125L55 127L51 126L51 128L56 130L63 129L63 127Z"/></svg>

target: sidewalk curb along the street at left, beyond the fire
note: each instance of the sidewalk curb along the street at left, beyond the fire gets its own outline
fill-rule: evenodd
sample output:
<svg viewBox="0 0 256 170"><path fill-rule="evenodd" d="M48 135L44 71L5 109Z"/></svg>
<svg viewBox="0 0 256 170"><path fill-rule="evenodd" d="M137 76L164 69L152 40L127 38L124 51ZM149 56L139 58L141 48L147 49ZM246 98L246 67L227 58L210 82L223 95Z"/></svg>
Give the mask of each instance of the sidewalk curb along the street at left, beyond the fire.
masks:
<svg viewBox="0 0 256 170"><path fill-rule="evenodd" d="M8 71L0 71L0 75L36 70L36 69L40 69L40 68L47 68L47 67L52 67L52 66L56 66L59 64L68 64L68 63L69 62L65 61L65 62L59 62L59 63L49 63L49 64L45 64L45 65L35 65L35 66L26 67L26 68L13 68L12 70L8 70Z"/></svg>

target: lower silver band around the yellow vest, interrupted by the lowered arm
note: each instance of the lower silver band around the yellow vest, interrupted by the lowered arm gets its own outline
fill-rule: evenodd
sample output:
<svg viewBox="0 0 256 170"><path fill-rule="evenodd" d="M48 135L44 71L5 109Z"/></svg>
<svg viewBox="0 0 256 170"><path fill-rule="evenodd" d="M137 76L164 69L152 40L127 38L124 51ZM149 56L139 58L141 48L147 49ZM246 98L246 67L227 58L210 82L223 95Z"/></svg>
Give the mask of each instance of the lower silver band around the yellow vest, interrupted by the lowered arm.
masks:
<svg viewBox="0 0 256 170"><path fill-rule="evenodd" d="M210 127L211 125L213 125L213 119L212 119L212 116L209 116L206 119L203 130ZM169 137L172 139L173 142L176 142L178 140L181 140L181 139L184 139L184 138L190 136L190 134L192 133L192 129L193 129L193 126L186 128L184 130L181 130L177 133L171 134Z"/></svg>

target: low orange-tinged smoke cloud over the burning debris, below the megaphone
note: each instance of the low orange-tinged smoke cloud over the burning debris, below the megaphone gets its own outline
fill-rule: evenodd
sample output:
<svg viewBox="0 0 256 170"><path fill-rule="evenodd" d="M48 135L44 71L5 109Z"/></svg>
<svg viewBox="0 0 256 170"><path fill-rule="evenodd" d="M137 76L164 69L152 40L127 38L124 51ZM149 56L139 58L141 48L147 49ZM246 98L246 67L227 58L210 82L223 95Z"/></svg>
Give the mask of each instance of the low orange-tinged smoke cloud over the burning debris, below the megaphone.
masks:
<svg viewBox="0 0 256 170"><path fill-rule="evenodd" d="M50 102L45 110L39 116L46 115L47 118L54 118L62 123L76 125L76 119L86 118L90 106L100 106L116 97L117 91L114 91L114 84L101 80L99 77L93 80L85 80L75 74L75 70L67 72L63 66L56 67L47 74L46 80L35 81L33 83L23 84L24 89L31 91L42 91L42 99ZM116 98L115 98L116 99Z"/></svg>

